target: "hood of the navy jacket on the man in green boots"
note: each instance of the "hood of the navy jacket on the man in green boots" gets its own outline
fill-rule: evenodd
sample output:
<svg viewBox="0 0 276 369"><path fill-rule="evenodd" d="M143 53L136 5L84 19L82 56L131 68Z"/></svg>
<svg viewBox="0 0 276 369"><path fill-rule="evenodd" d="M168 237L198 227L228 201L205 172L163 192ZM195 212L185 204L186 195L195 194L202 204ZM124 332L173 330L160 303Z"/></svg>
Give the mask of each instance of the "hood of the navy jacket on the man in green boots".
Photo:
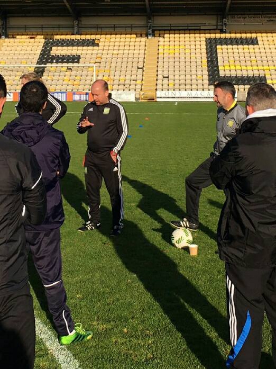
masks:
<svg viewBox="0 0 276 369"><path fill-rule="evenodd" d="M50 126L39 113L22 113L8 123L2 133L27 146L37 144L49 131Z"/></svg>

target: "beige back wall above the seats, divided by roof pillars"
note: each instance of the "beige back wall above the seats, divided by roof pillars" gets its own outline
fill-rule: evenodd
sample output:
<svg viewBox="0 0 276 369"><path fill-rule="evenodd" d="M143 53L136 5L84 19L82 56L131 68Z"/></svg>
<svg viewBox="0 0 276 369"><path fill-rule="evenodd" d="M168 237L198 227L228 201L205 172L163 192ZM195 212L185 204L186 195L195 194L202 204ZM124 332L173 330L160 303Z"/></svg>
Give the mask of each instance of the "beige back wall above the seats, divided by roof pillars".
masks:
<svg viewBox="0 0 276 369"><path fill-rule="evenodd" d="M222 17L220 15L154 15L153 28L162 29L221 29ZM107 16L107 17L81 17L79 20L80 31L95 28L123 28L132 29L147 28L146 15L137 16ZM24 31L56 31L64 30L73 32L72 17L8 17L8 32ZM227 20L227 32L234 30L275 30L276 14L230 14Z"/></svg>

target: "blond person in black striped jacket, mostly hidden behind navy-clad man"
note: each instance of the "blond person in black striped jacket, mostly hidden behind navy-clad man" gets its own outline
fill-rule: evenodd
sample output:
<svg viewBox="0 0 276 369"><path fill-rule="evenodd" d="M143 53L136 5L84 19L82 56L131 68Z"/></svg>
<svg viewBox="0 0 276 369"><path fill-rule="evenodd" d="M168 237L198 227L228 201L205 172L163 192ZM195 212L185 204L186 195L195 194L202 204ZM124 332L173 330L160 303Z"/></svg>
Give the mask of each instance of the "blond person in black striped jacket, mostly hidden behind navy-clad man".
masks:
<svg viewBox="0 0 276 369"><path fill-rule="evenodd" d="M45 85L41 77L39 77L38 74L36 74L35 72L24 73L22 74L20 79L22 85L25 85L25 83L30 81L39 81ZM23 113L20 101L15 106L15 109L18 115ZM62 101L57 99L55 96L51 95L48 91L48 99L46 107L42 111L43 118L46 119L46 121L50 125L54 125L63 117L63 115L65 115L66 111L67 111L66 105Z"/></svg>

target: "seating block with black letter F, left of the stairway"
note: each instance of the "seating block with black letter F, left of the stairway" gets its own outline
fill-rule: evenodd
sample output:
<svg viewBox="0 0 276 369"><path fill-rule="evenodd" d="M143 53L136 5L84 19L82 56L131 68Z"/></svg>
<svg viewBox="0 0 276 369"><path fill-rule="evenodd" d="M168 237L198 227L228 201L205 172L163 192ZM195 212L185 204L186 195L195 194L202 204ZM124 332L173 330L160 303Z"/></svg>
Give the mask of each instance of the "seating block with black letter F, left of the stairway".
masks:
<svg viewBox="0 0 276 369"><path fill-rule="evenodd" d="M90 35L55 35L52 38L44 39L43 36L23 35L16 38L4 40L3 48L7 53L2 55L2 64L44 64L57 63L56 66L49 66L43 69L43 81L50 91L82 91L89 90L94 76L94 68L66 68L59 66L58 63L95 64L97 78L106 80L112 90L134 90L137 99L140 97L140 90L143 79L144 54L146 49L145 32L125 33L106 33L98 32ZM62 40L66 40L64 42ZM52 40L52 41L51 41ZM95 42L94 42L95 40ZM54 43L53 41L57 41ZM76 42L78 41L78 42ZM84 41L81 44L81 41ZM25 61L28 42L37 45L38 51L29 56ZM16 55L14 45L22 45L22 53ZM62 45L62 43L64 45ZM45 57L45 52L41 53L42 46L45 50L51 48L51 59ZM96 47L95 47L96 46ZM44 56L43 56L44 55ZM1 68L0 68L1 70ZM24 68L16 68L16 83L8 78L8 89L18 91L20 84L18 78L26 72ZM32 69L34 70L34 69ZM38 71L38 70L36 70ZM3 73L3 72L2 72ZM14 70L10 70L8 75L12 76ZM3 73L4 76L7 72ZM11 84L13 82L13 84Z"/></svg>

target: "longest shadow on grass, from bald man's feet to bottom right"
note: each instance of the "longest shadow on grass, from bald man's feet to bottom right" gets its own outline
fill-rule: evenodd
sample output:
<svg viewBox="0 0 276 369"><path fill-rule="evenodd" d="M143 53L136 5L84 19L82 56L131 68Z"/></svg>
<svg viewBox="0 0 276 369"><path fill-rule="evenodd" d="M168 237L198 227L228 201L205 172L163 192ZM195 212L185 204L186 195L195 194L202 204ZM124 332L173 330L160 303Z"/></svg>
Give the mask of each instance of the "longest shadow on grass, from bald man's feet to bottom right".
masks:
<svg viewBox="0 0 276 369"><path fill-rule="evenodd" d="M105 218L111 217L111 211L105 207L102 207L102 214ZM224 368L225 358L191 309L201 315L224 341L228 341L226 317L179 273L177 265L167 255L146 239L136 224L128 220L124 220L124 224L122 235L112 241L125 267L139 278L200 363L206 369Z"/></svg>

